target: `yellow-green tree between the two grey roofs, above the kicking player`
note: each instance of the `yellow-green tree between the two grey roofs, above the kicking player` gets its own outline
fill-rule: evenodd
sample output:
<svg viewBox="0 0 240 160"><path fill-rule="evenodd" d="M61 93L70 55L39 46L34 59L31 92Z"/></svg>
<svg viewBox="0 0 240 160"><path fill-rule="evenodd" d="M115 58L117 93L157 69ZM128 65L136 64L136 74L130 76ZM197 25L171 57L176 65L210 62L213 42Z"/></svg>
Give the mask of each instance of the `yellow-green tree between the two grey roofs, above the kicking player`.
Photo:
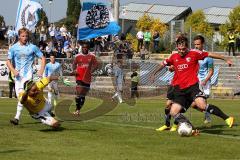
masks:
<svg viewBox="0 0 240 160"><path fill-rule="evenodd" d="M202 10L195 11L187 18L185 22L186 32L188 32L190 28L194 33L203 34L209 38L213 36L213 28L207 22Z"/></svg>

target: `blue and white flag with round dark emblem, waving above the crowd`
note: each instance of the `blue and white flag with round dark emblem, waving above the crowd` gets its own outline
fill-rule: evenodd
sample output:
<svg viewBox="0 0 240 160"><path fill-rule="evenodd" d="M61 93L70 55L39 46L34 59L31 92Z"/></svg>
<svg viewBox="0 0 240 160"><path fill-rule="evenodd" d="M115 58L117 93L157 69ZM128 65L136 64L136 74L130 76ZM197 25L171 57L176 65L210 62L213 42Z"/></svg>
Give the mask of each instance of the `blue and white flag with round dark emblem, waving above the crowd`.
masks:
<svg viewBox="0 0 240 160"><path fill-rule="evenodd" d="M118 34L120 27L114 21L109 0L83 0L78 24L78 40Z"/></svg>

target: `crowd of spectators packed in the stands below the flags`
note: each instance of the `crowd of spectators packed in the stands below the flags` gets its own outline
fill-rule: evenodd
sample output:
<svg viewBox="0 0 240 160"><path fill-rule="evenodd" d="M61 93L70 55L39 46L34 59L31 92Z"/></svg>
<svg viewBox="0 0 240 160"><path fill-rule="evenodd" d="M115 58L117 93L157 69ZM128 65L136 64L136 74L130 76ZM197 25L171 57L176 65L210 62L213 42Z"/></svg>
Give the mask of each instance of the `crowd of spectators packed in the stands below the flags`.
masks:
<svg viewBox="0 0 240 160"><path fill-rule="evenodd" d="M3 39L7 39L11 47L17 42L17 33L14 27L5 27ZM77 29L77 27L76 27ZM81 53L81 42L77 42L76 35L72 35L63 24L61 27L44 24L42 21L32 33L31 41L36 44L48 58L54 52L56 58L72 58L75 54ZM98 57L105 53L113 52L116 59L132 59L133 49L131 42L126 41L124 34L114 36L101 36L90 40L91 51Z"/></svg>

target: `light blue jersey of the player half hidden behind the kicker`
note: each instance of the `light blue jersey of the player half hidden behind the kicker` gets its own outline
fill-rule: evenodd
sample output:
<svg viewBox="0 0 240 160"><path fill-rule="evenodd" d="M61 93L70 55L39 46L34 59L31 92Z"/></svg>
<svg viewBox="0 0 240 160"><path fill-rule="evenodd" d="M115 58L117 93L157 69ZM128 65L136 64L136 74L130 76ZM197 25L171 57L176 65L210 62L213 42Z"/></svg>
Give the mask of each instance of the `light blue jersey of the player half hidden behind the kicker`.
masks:
<svg viewBox="0 0 240 160"><path fill-rule="evenodd" d="M206 57L204 60L200 60L199 62L199 71L198 78L199 81L203 81L206 79L209 68L213 68L213 59L210 57Z"/></svg>

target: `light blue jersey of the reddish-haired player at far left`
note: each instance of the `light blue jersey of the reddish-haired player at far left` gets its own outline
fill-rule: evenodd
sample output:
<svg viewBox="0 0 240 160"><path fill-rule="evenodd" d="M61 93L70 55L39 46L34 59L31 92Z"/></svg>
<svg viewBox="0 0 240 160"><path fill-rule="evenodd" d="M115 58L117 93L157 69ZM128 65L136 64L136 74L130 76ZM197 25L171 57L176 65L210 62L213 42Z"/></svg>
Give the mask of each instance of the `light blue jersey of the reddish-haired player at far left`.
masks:
<svg viewBox="0 0 240 160"><path fill-rule="evenodd" d="M9 49L8 59L12 61L14 68L19 72L19 76L16 77L16 80L20 80L22 78L32 79L32 65L35 56L42 58L43 53L37 46L31 43L20 45L18 42Z"/></svg>

